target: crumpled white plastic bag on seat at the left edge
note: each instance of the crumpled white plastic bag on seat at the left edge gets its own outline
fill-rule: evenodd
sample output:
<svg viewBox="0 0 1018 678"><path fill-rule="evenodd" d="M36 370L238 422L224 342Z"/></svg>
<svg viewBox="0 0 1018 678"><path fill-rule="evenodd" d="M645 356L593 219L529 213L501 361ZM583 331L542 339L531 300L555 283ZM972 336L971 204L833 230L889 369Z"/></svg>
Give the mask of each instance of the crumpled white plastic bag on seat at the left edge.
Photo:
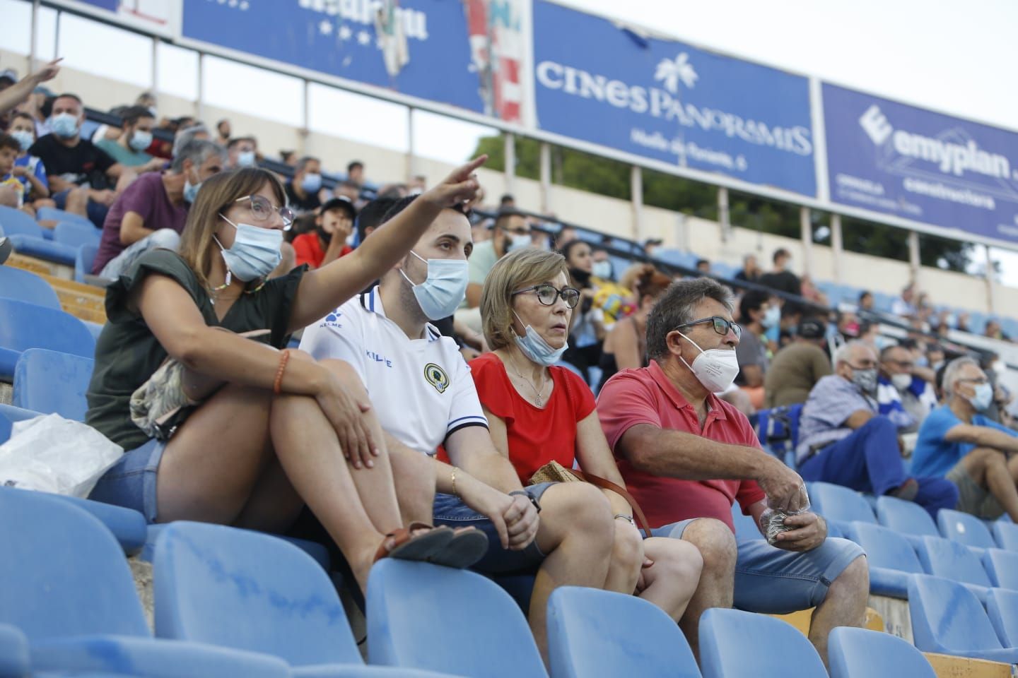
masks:
<svg viewBox="0 0 1018 678"><path fill-rule="evenodd" d="M88 497L123 447L60 415L15 422L0 445L0 485Z"/></svg>

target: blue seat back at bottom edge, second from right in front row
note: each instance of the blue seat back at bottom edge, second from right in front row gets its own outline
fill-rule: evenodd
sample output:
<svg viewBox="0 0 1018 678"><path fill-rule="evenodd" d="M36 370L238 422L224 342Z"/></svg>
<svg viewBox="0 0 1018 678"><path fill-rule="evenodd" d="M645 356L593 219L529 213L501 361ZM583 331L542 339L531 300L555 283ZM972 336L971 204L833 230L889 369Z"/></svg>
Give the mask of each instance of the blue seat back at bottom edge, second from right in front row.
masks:
<svg viewBox="0 0 1018 678"><path fill-rule="evenodd" d="M700 617L699 640L703 678L827 678L812 643L775 617L711 608Z"/></svg>

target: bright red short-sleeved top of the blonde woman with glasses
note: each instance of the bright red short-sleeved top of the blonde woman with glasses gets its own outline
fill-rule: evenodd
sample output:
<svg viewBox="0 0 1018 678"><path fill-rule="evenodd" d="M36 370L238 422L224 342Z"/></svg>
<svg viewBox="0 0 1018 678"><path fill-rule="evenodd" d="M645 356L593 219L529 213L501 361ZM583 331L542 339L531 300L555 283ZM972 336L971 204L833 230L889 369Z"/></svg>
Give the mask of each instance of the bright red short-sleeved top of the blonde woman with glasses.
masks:
<svg viewBox="0 0 1018 678"><path fill-rule="evenodd" d="M576 458L576 424L595 409L593 393L564 367L552 367L551 397L543 410L527 403L509 381L505 365L494 353L470 361L470 374L480 404L506 423L509 460L521 483L555 459L572 469Z"/></svg>

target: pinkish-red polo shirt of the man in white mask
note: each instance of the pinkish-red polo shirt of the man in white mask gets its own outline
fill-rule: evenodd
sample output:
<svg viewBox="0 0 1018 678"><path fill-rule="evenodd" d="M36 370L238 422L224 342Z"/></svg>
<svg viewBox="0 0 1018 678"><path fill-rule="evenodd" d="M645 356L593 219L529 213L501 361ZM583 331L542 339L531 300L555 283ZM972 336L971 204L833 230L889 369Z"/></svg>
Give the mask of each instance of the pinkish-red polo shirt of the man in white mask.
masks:
<svg viewBox="0 0 1018 678"><path fill-rule="evenodd" d="M615 450L622 434L636 424L695 433L718 442L747 447L759 447L749 420L728 403L708 395L710 412L699 428L696 409L672 385L657 362L648 367L623 370L608 380L598 396L598 416ZM732 504L739 502L742 512L765 498L764 491L752 480L689 481L652 476L636 471L629 461L616 454L619 471L626 488L639 502L646 519L660 528L693 517L722 520L732 532Z"/></svg>

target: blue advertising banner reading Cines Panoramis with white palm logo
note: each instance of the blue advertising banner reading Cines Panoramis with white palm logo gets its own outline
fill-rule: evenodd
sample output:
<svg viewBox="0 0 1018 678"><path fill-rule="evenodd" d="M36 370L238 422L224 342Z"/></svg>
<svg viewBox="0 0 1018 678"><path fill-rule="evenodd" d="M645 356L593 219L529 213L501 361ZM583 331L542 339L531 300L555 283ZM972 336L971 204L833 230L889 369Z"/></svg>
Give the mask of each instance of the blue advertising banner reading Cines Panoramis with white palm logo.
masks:
<svg viewBox="0 0 1018 678"><path fill-rule="evenodd" d="M534 0L541 129L816 195L809 81Z"/></svg>

